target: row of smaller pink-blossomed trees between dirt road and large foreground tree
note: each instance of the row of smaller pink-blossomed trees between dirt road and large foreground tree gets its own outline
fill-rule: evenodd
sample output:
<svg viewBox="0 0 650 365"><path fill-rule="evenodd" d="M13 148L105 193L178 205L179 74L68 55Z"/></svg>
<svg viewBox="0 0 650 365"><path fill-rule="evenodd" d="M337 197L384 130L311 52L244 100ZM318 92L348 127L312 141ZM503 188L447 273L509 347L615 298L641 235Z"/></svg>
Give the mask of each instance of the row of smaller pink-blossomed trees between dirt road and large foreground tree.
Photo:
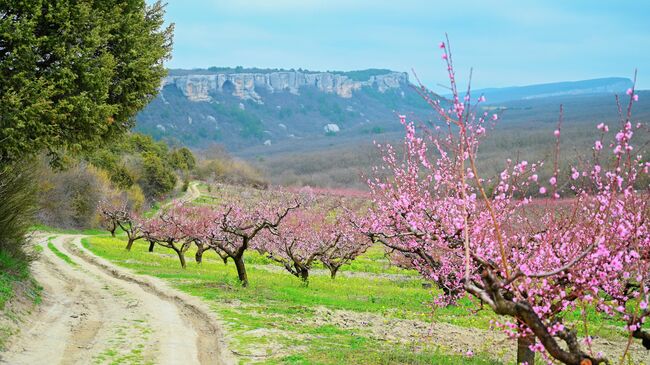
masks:
<svg viewBox="0 0 650 365"><path fill-rule="evenodd" d="M119 227L127 235L127 250L144 239L150 252L156 244L176 252L183 268L192 246L197 263L205 251L213 250L224 263L234 262L243 286L248 285L244 255L249 249L282 264L305 284L316 261L334 279L343 265L365 252L370 241L353 227L342 207L291 195L238 200L217 208L175 204L152 218L138 217L127 204L104 202L101 210L111 234Z"/></svg>

